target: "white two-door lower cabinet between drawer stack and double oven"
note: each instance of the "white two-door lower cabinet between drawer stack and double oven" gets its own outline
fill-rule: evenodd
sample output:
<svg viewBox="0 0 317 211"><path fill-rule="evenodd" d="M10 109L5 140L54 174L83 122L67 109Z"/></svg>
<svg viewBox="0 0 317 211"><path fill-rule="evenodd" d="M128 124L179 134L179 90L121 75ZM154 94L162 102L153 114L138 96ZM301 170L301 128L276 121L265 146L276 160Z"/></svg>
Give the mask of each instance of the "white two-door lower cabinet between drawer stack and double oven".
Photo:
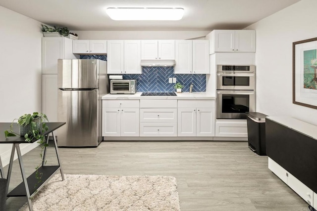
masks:
<svg viewBox="0 0 317 211"><path fill-rule="evenodd" d="M214 100L178 100L178 136L214 136Z"/></svg>

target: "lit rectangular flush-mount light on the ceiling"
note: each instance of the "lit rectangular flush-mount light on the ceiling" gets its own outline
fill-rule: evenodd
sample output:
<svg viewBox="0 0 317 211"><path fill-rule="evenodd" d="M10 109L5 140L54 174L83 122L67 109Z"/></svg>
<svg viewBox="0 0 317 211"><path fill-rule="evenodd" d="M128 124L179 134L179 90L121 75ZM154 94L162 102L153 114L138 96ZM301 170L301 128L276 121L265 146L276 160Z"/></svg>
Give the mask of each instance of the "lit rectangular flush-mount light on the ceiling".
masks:
<svg viewBox="0 0 317 211"><path fill-rule="evenodd" d="M109 7L106 13L112 20L180 20L184 9Z"/></svg>

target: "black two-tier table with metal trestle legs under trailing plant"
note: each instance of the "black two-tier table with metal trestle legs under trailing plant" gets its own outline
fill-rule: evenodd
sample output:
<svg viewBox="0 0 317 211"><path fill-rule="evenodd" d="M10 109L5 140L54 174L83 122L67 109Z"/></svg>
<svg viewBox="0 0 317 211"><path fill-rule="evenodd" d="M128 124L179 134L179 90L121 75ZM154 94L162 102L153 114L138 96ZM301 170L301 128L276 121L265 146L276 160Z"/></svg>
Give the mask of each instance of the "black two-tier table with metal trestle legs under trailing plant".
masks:
<svg viewBox="0 0 317 211"><path fill-rule="evenodd" d="M0 131L4 131L10 128L11 123L0 123ZM17 124L13 124L13 131L18 131L18 127L16 126ZM25 196L27 197L28 201L28 206L29 210L32 211L32 202L31 202L31 197L34 196L38 190L40 190L53 176L53 174L60 170L60 174L62 177L62 180L64 180L64 174L63 170L60 165L60 160L58 156L58 149L57 149L57 143L56 143L56 138L53 134L53 131L61 126L65 125L65 123L47 123L47 126L49 129L43 133L43 135L46 136L46 143L49 143L49 134L52 133L53 140L54 140L54 147L55 147L55 152L57 156L57 166L46 166L45 165L45 160L46 160L46 151L47 147L44 149L43 153L43 162L42 166L38 169L40 173L43 173L42 175L42 181L38 183L38 179L36 179L35 173L32 173L29 177L26 177L25 171L24 171L24 165L22 161L22 155L21 155L21 150L20 150L20 144L22 143L28 143L25 141L25 138L23 136L13 136L13 137L8 137L5 139L4 135L0 136L0 144L12 144L12 150L11 150L11 156L10 156L10 163L9 163L9 168L8 168L8 174L7 174L7 186L6 186L6 196L7 197L15 197L15 196ZM34 139L30 143L34 143L37 140ZM14 153L15 150L17 152L18 156L18 161L20 164L20 169L21 169L21 174L22 174L22 179L23 182L20 183L17 187L15 187L10 193L8 193L8 187L10 183L10 177L11 177L11 171L12 171L12 166L13 166L13 158L14 158ZM1 176L3 177L3 168L1 164L1 159L0 159L0 171L1 171ZM38 184L37 184L38 183ZM35 185L37 184L37 187Z"/></svg>

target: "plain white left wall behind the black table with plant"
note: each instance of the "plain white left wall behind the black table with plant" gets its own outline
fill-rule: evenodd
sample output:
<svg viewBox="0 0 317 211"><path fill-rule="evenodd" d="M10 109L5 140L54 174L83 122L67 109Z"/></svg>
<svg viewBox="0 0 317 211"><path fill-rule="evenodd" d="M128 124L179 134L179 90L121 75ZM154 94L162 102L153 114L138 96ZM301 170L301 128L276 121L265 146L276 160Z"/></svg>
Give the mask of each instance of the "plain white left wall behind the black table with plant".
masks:
<svg viewBox="0 0 317 211"><path fill-rule="evenodd" d="M40 22L0 6L0 122L42 111L42 37ZM10 149L0 145L3 165Z"/></svg>

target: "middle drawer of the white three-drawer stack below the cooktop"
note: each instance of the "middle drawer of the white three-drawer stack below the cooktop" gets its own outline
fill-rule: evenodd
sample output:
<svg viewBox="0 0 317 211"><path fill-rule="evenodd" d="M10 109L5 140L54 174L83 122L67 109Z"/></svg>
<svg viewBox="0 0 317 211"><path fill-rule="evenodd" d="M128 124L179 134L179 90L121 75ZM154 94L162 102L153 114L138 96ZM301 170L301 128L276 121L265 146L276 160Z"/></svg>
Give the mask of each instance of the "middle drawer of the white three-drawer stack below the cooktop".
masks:
<svg viewBox="0 0 317 211"><path fill-rule="evenodd" d="M141 108L140 122L143 123L176 123L177 108Z"/></svg>

